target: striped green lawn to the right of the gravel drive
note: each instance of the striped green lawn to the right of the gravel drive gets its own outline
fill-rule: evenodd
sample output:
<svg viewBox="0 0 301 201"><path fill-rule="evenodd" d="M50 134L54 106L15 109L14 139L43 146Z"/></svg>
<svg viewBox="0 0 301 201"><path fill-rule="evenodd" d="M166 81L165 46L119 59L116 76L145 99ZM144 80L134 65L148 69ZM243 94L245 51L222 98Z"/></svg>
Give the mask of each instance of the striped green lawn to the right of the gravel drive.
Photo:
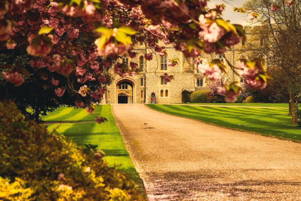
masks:
<svg viewBox="0 0 301 201"><path fill-rule="evenodd" d="M233 106L233 104L222 105ZM288 105L285 104L257 105L258 107L270 108L255 108L253 104L252 107L245 108L158 104L147 104L147 106L171 115L196 119L222 127L251 131L296 141L301 140L301 127L290 124L291 117L287 115Z"/></svg>

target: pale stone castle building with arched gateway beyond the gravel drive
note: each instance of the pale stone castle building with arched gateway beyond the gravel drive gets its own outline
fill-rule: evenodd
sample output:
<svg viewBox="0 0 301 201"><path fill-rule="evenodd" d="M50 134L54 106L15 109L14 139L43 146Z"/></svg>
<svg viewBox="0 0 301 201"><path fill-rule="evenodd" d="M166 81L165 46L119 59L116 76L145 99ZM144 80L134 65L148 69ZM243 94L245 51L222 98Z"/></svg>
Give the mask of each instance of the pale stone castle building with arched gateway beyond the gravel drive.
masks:
<svg viewBox="0 0 301 201"><path fill-rule="evenodd" d="M235 45L231 49L227 49L224 53L228 62L236 65L237 60L246 58L241 53L241 48L245 41ZM193 58L186 58L181 51L175 50L172 45L165 45L162 41L158 41L159 46L165 47L168 56L159 56L154 48L146 48L145 44L140 42L134 48L137 53L136 57L131 59L127 54L121 55L122 61L126 65L135 62L138 64L140 73L134 76L120 77L115 74L115 80L107 86L105 94L106 103L111 104L150 104L152 97L155 98L156 104L172 104L182 103L182 91L189 90L205 90L209 89L208 78L200 73L197 65L193 62ZM153 53L153 60L147 61L144 54ZM178 64L174 67L167 65L167 59L178 58ZM223 80L244 82L244 78L238 76L228 65L226 59L219 54L204 54L201 59L220 59L227 66L227 73L221 73ZM113 70L111 69L111 73ZM171 82L164 80L164 73L174 75L175 79Z"/></svg>

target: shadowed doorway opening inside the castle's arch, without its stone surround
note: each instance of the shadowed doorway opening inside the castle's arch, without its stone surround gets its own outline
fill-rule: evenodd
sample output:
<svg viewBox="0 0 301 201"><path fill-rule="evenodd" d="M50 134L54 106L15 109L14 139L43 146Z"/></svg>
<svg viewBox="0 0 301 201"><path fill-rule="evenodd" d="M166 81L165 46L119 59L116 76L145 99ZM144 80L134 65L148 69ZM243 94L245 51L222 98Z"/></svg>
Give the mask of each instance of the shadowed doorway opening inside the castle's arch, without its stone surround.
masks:
<svg viewBox="0 0 301 201"><path fill-rule="evenodd" d="M118 104L132 104L133 84L127 80L119 82L117 85L117 96Z"/></svg>

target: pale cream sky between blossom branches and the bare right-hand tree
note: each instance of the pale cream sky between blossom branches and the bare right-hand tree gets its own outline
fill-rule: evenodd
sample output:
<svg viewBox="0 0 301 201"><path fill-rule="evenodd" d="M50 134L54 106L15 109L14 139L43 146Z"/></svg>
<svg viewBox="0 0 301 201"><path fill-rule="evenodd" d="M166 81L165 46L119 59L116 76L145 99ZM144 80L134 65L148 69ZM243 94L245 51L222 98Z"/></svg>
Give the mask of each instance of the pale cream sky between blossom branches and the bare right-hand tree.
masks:
<svg viewBox="0 0 301 201"><path fill-rule="evenodd" d="M231 4L233 7L226 2ZM244 16L246 16L246 14L242 15L238 12L233 12L234 7L242 7L245 2L246 0L210 0L207 5L210 9L212 9L216 4L224 4L226 6L225 11L223 11L224 20L230 20L231 24L251 25L244 20Z"/></svg>

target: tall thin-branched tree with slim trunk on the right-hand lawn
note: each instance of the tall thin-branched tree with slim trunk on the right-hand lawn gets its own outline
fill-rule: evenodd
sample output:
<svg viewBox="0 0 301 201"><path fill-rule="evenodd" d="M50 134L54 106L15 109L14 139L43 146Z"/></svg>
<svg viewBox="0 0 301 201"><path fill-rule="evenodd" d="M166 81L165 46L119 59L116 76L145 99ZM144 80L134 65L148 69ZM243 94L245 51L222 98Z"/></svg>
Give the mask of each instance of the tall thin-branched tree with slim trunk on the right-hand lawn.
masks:
<svg viewBox="0 0 301 201"><path fill-rule="evenodd" d="M296 124L296 97L301 88L301 2L252 0L244 8L259 14L257 22L261 23L250 35L249 53L261 55L274 75L273 83L287 88L291 123Z"/></svg>

